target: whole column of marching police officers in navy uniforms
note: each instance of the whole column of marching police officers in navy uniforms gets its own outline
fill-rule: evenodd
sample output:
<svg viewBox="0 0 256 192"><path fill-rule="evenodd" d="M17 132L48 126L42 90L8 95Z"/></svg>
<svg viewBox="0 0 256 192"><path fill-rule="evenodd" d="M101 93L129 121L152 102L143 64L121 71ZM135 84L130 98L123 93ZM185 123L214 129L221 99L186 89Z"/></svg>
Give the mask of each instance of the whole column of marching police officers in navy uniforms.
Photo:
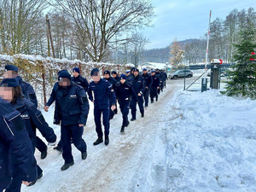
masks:
<svg viewBox="0 0 256 192"><path fill-rule="evenodd" d="M89 100L94 105L97 138L93 145L109 143L110 120L122 113L120 132L125 132L130 122L137 119L137 105L141 117L150 102L158 101L160 91L166 87L167 75L163 70L131 68L120 76L115 71L104 71L103 79L97 68L90 72L91 81L73 68L73 77L66 69L58 73L44 111L55 102L54 124L61 125L61 139L54 149L62 153L61 171L73 166L72 143L87 157L87 145L82 138L89 113ZM88 100L89 99L89 100ZM119 103L119 110L117 108ZM34 157L35 148L41 159L47 156L48 146L37 137L40 131L49 146L56 142L55 132L38 110L38 101L32 85L19 76L18 67L6 65L0 84L0 191L20 191L21 183L32 186L43 177L43 170ZM102 129L102 125L104 129Z"/></svg>

